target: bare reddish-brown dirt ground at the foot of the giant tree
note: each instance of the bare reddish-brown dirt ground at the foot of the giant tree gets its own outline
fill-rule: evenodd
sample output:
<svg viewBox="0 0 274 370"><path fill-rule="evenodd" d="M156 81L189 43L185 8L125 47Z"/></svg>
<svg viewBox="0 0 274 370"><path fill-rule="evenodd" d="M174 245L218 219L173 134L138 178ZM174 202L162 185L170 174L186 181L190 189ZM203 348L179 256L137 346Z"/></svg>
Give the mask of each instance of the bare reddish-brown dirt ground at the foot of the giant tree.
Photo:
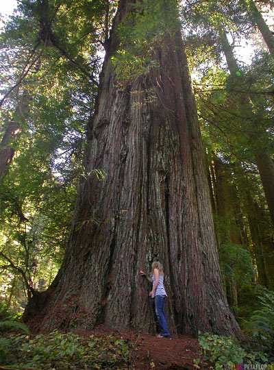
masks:
<svg viewBox="0 0 274 370"><path fill-rule="evenodd" d="M132 367L134 370L208 370L213 369L201 359L199 342L189 336L177 338L157 338L155 334L138 332L110 332L104 327L97 327L92 332L77 333L95 336L113 335L132 344ZM199 365L193 360L200 358Z"/></svg>

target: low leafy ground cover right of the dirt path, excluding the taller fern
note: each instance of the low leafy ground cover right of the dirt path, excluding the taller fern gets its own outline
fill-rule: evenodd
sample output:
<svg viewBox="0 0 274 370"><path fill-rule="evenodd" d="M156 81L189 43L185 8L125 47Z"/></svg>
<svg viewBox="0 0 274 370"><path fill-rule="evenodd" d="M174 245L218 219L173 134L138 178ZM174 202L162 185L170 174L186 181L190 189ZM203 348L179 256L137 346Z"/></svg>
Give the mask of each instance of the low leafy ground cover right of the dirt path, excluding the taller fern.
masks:
<svg viewBox="0 0 274 370"><path fill-rule="evenodd" d="M256 364L268 361L262 352L247 352L235 338L213 334L199 335L203 360L212 363L214 369L225 369L225 365Z"/></svg>

